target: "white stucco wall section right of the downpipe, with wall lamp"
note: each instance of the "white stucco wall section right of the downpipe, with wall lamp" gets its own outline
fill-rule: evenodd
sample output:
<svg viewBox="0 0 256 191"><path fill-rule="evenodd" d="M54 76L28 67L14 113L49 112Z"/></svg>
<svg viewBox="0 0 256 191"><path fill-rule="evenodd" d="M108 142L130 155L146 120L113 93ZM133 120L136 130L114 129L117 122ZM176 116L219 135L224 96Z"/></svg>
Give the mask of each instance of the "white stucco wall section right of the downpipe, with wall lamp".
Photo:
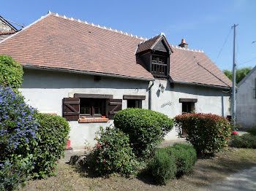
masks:
<svg viewBox="0 0 256 191"><path fill-rule="evenodd" d="M159 89L160 83L165 86L163 93ZM173 118L178 114L182 114L182 103L179 103L179 98L196 98L195 112L212 113L227 117L230 114L230 93L226 92L227 90L223 91L219 88L195 85L175 84L174 87L170 87L170 82L166 79L156 79L152 87L151 109ZM171 140L176 139L176 137L177 133L173 128L165 139Z"/></svg>

